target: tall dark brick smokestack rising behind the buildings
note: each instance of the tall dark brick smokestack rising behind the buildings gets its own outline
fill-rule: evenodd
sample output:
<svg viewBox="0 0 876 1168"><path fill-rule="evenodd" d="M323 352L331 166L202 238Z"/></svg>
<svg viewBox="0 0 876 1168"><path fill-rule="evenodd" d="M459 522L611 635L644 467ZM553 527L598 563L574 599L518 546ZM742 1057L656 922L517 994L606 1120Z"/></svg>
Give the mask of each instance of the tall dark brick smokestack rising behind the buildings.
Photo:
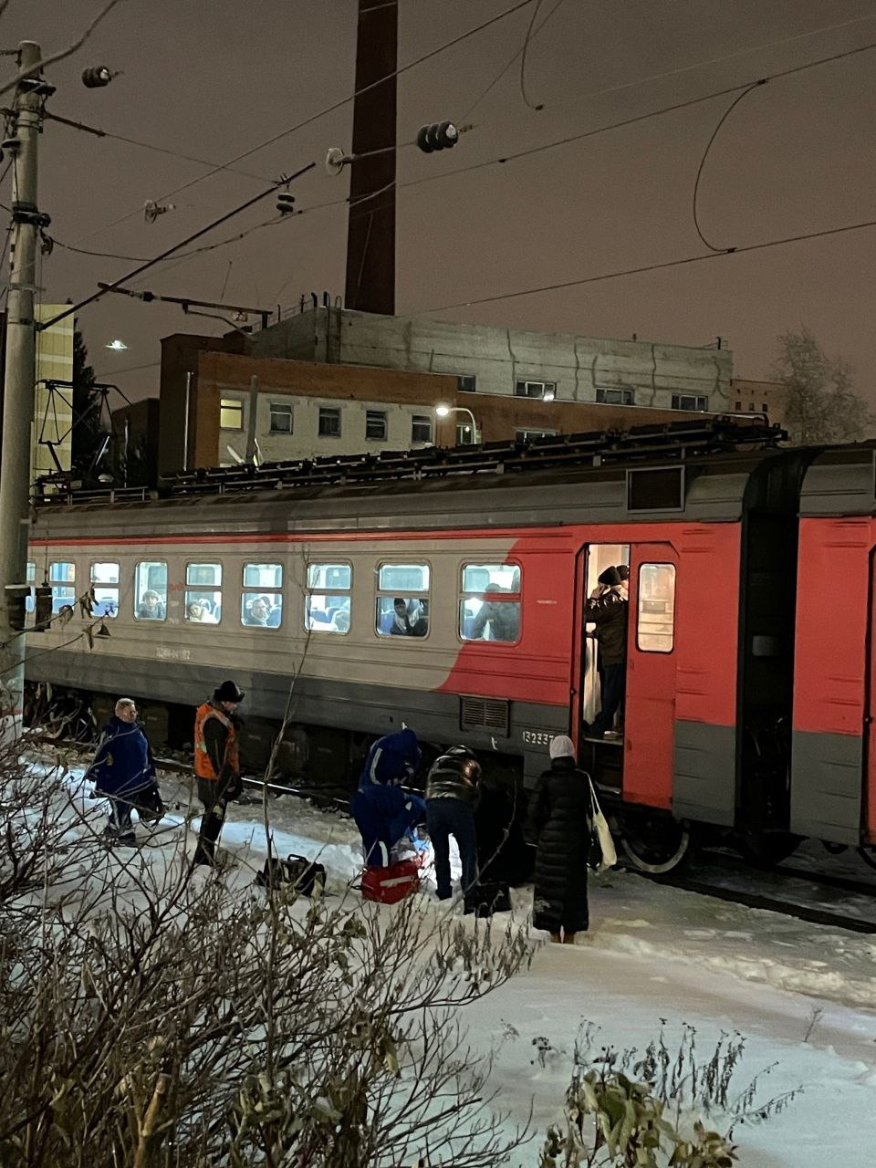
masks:
<svg viewBox="0 0 876 1168"><path fill-rule="evenodd" d="M396 311L397 54L398 0L359 0L356 92L374 88L353 106L353 154L382 153L350 165L345 306L388 315Z"/></svg>

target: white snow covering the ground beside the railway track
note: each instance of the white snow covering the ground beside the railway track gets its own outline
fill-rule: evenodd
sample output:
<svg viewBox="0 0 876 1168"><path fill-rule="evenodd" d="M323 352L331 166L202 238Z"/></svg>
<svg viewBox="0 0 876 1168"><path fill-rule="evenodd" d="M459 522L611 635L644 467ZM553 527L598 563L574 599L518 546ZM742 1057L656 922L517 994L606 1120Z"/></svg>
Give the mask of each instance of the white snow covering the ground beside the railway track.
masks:
<svg viewBox="0 0 876 1168"><path fill-rule="evenodd" d="M188 786L168 779L162 790L180 805L165 823L175 819L180 826L166 827L141 849L139 862L145 864L169 863L181 842L194 847L197 819L187 829L183 818ZM99 823L99 804L82 793L77 802ZM228 875L232 884L249 884L264 862L263 814L257 801L231 809L222 846L237 861ZM274 854L319 858L328 872L328 895L346 891L360 870L350 820L317 812L293 797L272 799L269 816ZM446 911L426 896L422 899L424 912ZM515 916L524 918L530 908L531 890L516 890ZM579 934L577 945L545 943L529 972L464 1015L470 1043L495 1051L500 1101L513 1117L524 1120L533 1107L541 1132L562 1118L583 1022L599 1027L592 1040L597 1050L644 1050L666 1020L673 1050L684 1023L695 1028L701 1052L712 1049L722 1031L745 1036L734 1079L737 1094L767 1066L772 1070L757 1092L760 1103L802 1087L767 1122L736 1129L745 1168L864 1168L874 1162L876 938L623 871L592 881L591 919L591 931ZM534 1140L520 1154L520 1164L534 1168L540 1147L541 1140Z"/></svg>

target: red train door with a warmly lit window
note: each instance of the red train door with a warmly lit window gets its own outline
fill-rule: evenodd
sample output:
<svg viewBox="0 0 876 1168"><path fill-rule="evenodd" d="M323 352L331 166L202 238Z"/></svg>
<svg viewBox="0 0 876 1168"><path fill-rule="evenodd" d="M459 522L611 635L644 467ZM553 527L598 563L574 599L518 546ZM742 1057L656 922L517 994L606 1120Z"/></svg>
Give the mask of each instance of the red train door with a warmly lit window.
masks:
<svg viewBox="0 0 876 1168"><path fill-rule="evenodd" d="M669 809L675 741L675 584L669 543L630 549L624 800Z"/></svg>

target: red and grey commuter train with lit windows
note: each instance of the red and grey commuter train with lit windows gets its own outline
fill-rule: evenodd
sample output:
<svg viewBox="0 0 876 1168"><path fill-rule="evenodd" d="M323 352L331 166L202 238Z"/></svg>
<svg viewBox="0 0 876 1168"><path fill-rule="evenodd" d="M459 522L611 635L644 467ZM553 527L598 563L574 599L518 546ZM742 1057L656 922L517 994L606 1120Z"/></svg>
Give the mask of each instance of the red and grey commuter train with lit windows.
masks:
<svg viewBox="0 0 876 1168"><path fill-rule="evenodd" d="M872 858L875 447L781 437L697 418L49 495L28 682L98 711L128 694L179 745L231 676L245 755L281 725L274 759L311 784L404 723L526 788L568 732L646 870L697 833L766 862L802 836ZM624 722L593 741L584 600L619 564Z"/></svg>

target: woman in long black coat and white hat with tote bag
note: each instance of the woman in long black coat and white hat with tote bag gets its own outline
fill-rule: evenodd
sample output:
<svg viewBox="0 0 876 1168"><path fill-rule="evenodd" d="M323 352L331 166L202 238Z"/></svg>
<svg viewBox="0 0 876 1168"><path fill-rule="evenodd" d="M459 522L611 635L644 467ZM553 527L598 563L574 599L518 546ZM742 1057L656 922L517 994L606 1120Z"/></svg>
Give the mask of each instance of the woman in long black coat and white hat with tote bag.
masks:
<svg viewBox="0 0 876 1168"><path fill-rule="evenodd" d="M589 924L590 780L575 765L571 738L550 743L550 770L533 792L528 834L536 844L533 924L554 941L575 944Z"/></svg>

